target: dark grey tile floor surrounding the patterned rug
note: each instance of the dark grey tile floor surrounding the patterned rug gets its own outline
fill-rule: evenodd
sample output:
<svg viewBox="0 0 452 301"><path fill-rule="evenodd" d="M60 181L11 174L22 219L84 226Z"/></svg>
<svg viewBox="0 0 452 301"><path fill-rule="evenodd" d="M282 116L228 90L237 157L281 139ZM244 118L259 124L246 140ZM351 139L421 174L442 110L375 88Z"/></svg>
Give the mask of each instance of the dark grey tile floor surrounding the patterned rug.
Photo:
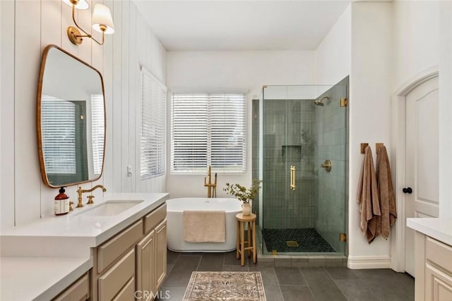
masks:
<svg viewBox="0 0 452 301"><path fill-rule="evenodd" d="M167 253L167 278L162 286L169 299L180 301L192 271L261 271L268 301L411 301L415 281L391 269L351 270L345 267L293 268L245 266L227 253ZM158 299L157 299L158 300Z"/></svg>

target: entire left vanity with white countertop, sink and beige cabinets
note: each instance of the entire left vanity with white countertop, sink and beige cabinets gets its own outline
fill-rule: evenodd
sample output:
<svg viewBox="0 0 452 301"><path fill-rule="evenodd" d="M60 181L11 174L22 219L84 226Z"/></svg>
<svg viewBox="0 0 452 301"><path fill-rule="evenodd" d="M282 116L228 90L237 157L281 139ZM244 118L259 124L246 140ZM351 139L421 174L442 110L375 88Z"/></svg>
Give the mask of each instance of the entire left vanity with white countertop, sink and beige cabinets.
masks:
<svg viewBox="0 0 452 301"><path fill-rule="evenodd" d="M114 193L2 228L0 300L149 300L167 273L167 198Z"/></svg>

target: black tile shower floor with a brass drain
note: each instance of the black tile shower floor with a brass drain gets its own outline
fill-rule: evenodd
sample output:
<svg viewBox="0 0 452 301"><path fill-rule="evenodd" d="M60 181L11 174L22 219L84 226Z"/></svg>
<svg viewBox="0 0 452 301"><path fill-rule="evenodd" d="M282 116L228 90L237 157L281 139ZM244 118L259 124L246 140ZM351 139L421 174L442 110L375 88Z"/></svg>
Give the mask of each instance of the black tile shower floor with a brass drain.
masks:
<svg viewBox="0 0 452 301"><path fill-rule="evenodd" d="M263 239L268 252L335 252L314 228L264 229ZM298 242L298 247L289 247L287 242Z"/></svg>

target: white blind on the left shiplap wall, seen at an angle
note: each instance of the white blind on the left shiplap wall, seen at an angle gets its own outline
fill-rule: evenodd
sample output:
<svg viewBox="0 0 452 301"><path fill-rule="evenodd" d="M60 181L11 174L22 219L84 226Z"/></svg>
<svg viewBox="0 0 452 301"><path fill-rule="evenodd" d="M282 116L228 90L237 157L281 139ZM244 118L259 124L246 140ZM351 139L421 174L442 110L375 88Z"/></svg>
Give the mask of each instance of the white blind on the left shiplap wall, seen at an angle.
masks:
<svg viewBox="0 0 452 301"><path fill-rule="evenodd" d="M141 68L141 180L165 174L167 88Z"/></svg>

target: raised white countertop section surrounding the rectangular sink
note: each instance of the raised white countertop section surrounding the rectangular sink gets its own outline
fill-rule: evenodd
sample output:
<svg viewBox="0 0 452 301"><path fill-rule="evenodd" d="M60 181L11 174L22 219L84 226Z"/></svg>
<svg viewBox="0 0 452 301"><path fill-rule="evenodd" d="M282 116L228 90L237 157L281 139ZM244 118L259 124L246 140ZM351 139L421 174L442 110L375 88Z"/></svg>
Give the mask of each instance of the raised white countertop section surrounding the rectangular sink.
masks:
<svg viewBox="0 0 452 301"><path fill-rule="evenodd" d="M69 214L48 216L33 223L1 231L1 256L22 257L81 257L89 254L90 247L97 247L112 235L137 221L149 211L165 203L167 193L117 193L105 195L93 205L74 208ZM105 202L143 200L120 214L93 216L90 209ZM24 247L24 242L35 247ZM71 252L73 254L71 254Z"/></svg>

